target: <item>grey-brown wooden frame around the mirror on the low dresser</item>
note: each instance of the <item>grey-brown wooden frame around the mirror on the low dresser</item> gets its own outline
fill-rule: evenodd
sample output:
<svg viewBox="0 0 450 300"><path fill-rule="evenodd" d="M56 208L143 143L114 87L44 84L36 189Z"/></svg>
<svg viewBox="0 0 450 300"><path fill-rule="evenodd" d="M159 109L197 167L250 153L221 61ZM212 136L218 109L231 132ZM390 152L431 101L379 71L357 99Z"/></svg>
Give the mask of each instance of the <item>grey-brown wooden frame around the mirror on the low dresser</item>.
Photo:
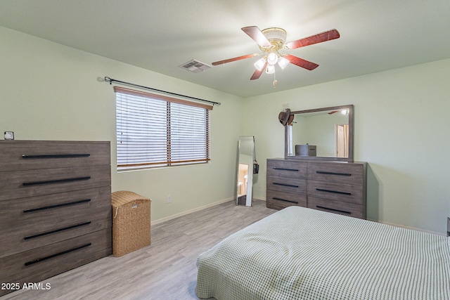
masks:
<svg viewBox="0 0 450 300"><path fill-rule="evenodd" d="M284 157L285 159L306 159L306 160L330 160L338 162L353 162L353 105L340 105L332 107L316 108L314 110L297 110L290 112L290 115L307 114L309 112L325 112L328 110L349 110L349 157L320 157L320 156L300 156L288 155L288 124L284 126ZM295 117L294 117L295 118Z"/></svg>

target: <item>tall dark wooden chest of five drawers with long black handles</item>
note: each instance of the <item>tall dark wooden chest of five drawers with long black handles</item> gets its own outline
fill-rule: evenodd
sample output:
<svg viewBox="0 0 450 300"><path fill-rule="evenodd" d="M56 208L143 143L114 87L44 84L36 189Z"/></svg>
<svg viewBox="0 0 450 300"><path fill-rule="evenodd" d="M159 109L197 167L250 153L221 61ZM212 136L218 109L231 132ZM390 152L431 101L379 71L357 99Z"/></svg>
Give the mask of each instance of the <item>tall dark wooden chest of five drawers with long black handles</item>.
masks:
<svg viewBox="0 0 450 300"><path fill-rule="evenodd" d="M110 184L110 142L0 141L0 282L111 254Z"/></svg>

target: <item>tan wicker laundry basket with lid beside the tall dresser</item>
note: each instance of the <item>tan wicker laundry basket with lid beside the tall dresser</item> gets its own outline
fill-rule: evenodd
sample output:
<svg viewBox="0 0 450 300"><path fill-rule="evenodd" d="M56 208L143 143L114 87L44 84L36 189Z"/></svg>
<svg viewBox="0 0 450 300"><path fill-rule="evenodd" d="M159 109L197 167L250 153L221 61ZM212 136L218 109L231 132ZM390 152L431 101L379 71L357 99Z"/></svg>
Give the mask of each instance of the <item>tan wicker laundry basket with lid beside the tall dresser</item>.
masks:
<svg viewBox="0 0 450 300"><path fill-rule="evenodd" d="M150 244L151 200L127 190L111 194L113 254L122 256Z"/></svg>

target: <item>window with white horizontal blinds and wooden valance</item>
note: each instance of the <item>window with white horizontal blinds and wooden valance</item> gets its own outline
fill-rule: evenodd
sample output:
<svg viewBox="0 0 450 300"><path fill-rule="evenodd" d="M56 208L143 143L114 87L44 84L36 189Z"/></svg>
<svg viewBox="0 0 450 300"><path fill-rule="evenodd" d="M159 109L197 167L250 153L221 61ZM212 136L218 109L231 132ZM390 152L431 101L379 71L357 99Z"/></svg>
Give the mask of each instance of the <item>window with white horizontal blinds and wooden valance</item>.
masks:
<svg viewBox="0 0 450 300"><path fill-rule="evenodd" d="M212 106L115 86L117 170L210 160Z"/></svg>

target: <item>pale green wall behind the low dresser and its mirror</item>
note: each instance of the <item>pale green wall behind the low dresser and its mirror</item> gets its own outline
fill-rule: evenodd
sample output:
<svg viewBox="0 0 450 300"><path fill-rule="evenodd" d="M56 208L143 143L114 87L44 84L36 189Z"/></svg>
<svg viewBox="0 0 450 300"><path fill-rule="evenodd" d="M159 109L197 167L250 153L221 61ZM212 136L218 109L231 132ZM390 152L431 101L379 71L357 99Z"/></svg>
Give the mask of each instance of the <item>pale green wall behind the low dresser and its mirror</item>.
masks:
<svg viewBox="0 0 450 300"><path fill-rule="evenodd" d="M265 198L266 158L283 157L278 112L354 104L354 155L368 162L368 219L446 232L450 216L450 59L245 99L257 118L261 164L255 197Z"/></svg>

